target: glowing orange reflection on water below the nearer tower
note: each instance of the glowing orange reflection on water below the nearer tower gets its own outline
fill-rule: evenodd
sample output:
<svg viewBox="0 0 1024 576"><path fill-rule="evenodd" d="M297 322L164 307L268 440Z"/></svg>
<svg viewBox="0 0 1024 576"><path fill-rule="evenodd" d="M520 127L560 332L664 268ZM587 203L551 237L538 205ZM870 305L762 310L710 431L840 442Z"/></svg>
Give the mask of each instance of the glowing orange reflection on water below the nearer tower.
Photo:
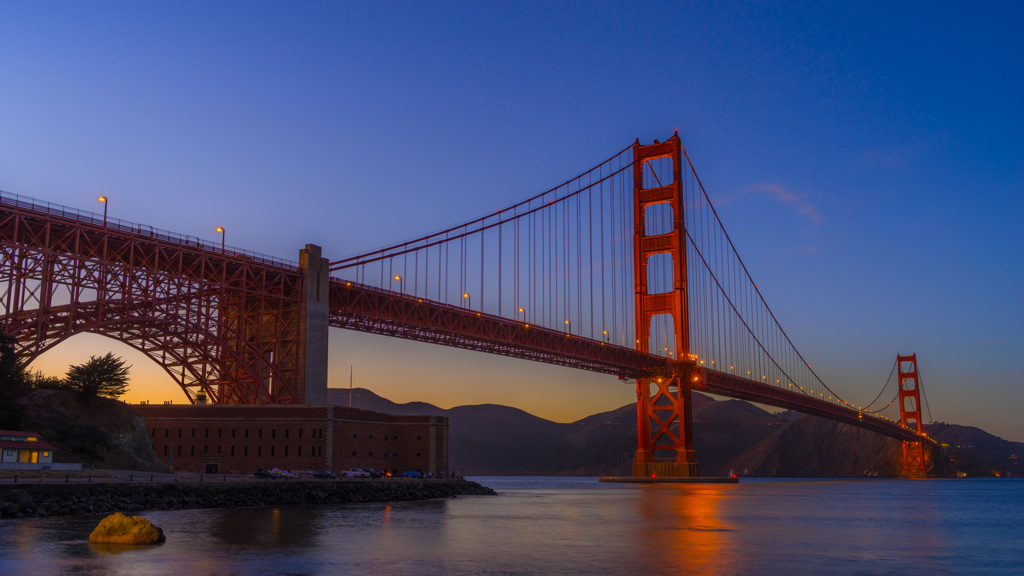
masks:
<svg viewBox="0 0 1024 576"><path fill-rule="evenodd" d="M686 570L720 575L735 560L736 528L724 520L724 500L735 485L646 486L637 499L641 565L654 573Z"/></svg>

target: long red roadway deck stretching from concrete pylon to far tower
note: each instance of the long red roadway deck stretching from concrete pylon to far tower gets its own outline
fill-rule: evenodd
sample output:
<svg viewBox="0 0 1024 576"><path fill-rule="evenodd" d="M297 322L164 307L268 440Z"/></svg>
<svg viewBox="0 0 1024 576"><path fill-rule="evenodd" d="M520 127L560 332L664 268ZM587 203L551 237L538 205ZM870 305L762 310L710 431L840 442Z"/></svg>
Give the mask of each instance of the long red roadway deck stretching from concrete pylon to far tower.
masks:
<svg viewBox="0 0 1024 576"><path fill-rule="evenodd" d="M566 366L623 378L679 374L693 389L813 414L900 441L925 441L915 433L872 414L717 370L632 348L532 326L489 314L331 280L331 326L422 342Z"/></svg>

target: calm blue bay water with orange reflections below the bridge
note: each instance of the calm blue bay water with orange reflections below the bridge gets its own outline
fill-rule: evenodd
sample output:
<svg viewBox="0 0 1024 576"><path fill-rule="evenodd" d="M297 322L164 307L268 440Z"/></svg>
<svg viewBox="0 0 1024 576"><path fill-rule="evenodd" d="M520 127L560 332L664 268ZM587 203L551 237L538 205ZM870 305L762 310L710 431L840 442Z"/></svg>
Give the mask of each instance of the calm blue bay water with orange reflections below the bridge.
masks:
<svg viewBox="0 0 1024 576"><path fill-rule="evenodd" d="M0 521L0 574L1024 574L1024 481L615 485L479 478L500 496Z"/></svg>

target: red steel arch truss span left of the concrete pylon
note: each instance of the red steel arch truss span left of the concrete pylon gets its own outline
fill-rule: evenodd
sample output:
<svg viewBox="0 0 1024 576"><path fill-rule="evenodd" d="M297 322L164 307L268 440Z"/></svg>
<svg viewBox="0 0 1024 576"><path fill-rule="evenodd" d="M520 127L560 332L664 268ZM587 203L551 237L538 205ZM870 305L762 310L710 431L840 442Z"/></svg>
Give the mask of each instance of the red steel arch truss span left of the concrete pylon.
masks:
<svg viewBox="0 0 1024 576"><path fill-rule="evenodd" d="M152 358L190 401L302 402L294 266L6 195L0 257L2 322L25 363L94 332Z"/></svg>

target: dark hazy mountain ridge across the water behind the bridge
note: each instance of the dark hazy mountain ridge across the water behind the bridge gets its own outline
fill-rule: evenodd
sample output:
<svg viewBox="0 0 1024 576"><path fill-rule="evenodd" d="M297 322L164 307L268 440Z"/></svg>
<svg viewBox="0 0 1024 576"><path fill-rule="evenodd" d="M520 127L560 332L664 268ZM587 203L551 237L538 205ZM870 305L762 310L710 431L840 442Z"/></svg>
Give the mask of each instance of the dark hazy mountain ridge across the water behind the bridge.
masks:
<svg viewBox="0 0 1024 576"><path fill-rule="evenodd" d="M349 405L347 388L329 388L328 402ZM478 476L626 476L636 451L636 405L575 422L552 422L497 404L443 409L398 404L352 388L354 408L387 414L449 418L451 465ZM692 393L694 447L705 476L780 478L894 477L902 469L898 441L833 420L772 414L740 400ZM1024 444L971 426L936 423L929 434L950 446L934 454L933 475L1024 476Z"/></svg>

